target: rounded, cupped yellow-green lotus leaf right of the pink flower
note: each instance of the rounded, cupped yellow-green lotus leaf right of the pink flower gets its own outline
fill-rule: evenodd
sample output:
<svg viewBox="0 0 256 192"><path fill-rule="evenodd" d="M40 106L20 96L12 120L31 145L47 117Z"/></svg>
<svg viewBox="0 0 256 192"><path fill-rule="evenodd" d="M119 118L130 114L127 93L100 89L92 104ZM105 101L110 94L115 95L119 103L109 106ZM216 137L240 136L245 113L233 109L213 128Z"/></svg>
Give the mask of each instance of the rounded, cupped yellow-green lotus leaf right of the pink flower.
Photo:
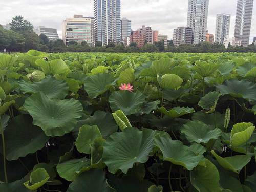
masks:
<svg viewBox="0 0 256 192"><path fill-rule="evenodd" d="M176 89L181 86L183 80L175 74L165 74L160 79L160 87L163 89Z"/></svg>

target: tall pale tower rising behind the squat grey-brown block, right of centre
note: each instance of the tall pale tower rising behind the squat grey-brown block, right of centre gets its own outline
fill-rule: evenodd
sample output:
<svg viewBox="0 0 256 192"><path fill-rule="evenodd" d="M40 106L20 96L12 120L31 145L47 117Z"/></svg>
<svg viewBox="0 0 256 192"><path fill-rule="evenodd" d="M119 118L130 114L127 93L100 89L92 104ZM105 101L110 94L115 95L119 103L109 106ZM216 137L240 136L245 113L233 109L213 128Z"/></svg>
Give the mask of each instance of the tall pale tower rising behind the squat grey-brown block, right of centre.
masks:
<svg viewBox="0 0 256 192"><path fill-rule="evenodd" d="M205 41L209 0L188 0L187 27L192 28L193 44Z"/></svg>

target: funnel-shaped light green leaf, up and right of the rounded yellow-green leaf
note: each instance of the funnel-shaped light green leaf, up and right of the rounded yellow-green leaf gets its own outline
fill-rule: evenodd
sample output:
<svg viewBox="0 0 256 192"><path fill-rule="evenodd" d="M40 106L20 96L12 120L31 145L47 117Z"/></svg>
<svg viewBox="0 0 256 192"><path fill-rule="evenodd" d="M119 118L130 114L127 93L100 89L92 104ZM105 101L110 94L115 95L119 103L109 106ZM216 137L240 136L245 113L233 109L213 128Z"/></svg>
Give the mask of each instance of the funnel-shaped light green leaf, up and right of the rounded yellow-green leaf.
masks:
<svg viewBox="0 0 256 192"><path fill-rule="evenodd" d="M216 63L208 63L202 61L197 61L196 65L192 67L192 69L202 77L211 76L218 68L219 65Z"/></svg>

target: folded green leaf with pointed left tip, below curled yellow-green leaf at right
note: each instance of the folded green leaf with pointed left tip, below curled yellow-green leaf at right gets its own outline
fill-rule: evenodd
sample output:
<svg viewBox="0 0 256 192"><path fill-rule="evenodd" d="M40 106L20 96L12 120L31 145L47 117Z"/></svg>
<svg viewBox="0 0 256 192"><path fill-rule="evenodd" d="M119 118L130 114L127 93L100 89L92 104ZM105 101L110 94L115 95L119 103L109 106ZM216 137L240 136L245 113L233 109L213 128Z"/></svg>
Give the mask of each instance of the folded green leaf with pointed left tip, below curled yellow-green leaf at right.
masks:
<svg viewBox="0 0 256 192"><path fill-rule="evenodd" d="M214 150L211 151L212 155L216 158L218 163L225 168L234 173L239 173L240 170L250 162L251 157L248 155L235 155L231 157L221 157L215 153Z"/></svg>

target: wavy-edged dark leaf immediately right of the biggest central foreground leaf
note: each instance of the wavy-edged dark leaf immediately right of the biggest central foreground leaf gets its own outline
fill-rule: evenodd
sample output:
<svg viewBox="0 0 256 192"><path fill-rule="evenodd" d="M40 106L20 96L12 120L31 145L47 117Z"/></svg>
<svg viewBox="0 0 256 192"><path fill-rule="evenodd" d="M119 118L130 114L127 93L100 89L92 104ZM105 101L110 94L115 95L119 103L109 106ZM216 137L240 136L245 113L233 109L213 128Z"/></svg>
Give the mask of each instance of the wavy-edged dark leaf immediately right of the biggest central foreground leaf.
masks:
<svg viewBox="0 0 256 192"><path fill-rule="evenodd" d="M192 170L204 158L203 155L190 151L189 147L183 145L181 141L173 141L165 132L156 135L155 145L163 153L163 160L181 165L188 170Z"/></svg>

